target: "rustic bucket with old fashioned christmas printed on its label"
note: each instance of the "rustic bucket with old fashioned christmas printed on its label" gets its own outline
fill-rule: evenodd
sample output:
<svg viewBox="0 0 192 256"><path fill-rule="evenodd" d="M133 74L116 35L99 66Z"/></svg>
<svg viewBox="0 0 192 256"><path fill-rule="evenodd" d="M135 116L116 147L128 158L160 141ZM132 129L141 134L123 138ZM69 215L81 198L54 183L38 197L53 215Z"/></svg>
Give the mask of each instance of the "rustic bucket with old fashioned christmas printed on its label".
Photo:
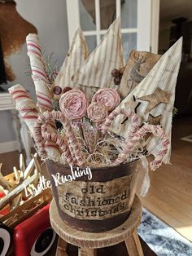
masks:
<svg viewBox="0 0 192 256"><path fill-rule="evenodd" d="M137 160L89 170L46 161L60 218L85 232L120 226L130 214L139 164Z"/></svg>

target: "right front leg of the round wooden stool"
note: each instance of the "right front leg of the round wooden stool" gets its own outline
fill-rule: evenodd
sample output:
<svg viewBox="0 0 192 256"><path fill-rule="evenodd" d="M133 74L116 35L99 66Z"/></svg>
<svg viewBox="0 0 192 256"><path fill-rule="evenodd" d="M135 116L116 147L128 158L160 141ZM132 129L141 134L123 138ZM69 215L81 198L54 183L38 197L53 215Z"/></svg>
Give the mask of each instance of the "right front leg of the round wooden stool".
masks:
<svg viewBox="0 0 192 256"><path fill-rule="evenodd" d="M142 245L137 236L137 231L133 232L132 236L129 236L124 242L129 256L143 256Z"/></svg>

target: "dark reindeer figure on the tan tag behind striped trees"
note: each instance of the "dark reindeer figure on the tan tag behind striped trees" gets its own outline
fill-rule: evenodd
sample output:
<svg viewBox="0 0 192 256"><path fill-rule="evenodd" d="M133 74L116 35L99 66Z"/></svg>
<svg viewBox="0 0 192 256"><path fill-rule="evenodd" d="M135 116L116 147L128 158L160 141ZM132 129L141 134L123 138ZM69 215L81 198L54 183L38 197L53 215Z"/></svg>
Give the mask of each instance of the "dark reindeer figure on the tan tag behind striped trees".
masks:
<svg viewBox="0 0 192 256"><path fill-rule="evenodd" d="M133 88L136 86L135 84L138 84L142 82L142 79L144 76L140 75L140 66L146 62L146 58L143 55L136 55L136 53L133 53L133 59L134 59L134 65L129 73L130 79L128 80L128 87L130 88L129 91L133 90ZM129 82L131 82L131 86L129 85Z"/></svg>

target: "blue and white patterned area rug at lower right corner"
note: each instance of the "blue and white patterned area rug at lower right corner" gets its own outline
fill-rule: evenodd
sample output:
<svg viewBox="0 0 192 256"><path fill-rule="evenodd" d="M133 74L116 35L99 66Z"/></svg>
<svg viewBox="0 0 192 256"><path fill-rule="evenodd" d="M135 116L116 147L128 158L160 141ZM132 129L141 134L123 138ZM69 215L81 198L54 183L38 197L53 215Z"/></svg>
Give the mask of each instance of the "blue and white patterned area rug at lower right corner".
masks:
<svg viewBox="0 0 192 256"><path fill-rule="evenodd" d="M146 209L138 234L158 256L192 255L192 243Z"/></svg>

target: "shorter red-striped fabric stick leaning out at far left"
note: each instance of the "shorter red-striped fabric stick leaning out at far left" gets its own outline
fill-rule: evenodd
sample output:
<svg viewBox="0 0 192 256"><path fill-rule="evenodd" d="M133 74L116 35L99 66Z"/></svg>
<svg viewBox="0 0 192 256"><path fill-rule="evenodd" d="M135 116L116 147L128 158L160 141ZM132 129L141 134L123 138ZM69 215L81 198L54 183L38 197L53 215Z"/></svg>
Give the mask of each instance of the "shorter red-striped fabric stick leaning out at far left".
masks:
<svg viewBox="0 0 192 256"><path fill-rule="evenodd" d="M28 129L30 130L32 136L34 137L34 125L39 117L39 112L36 104L28 95L27 91L23 86L15 85L9 88L9 93L12 98L15 100L15 105L17 110L20 113L20 116L23 117ZM54 132L55 128L53 126L47 125L50 132ZM47 142L46 151L49 155L59 157L59 150L56 144Z"/></svg>

